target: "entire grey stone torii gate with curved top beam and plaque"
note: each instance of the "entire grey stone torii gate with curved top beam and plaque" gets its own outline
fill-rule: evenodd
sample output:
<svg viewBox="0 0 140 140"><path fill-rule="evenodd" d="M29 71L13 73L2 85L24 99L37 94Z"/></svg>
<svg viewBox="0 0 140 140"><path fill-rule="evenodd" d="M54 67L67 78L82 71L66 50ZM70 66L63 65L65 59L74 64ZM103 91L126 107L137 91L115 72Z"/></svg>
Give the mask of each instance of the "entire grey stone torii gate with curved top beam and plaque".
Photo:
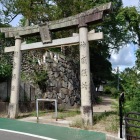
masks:
<svg viewBox="0 0 140 140"><path fill-rule="evenodd" d="M11 97L9 104L9 117L16 118L18 115L19 82L21 51L29 49L40 49L57 47L62 45L80 44L80 77L81 77L81 113L86 125L93 124L93 109L90 91L90 62L89 62L89 41L103 38L103 33L88 32L88 24L101 22L104 14L111 10L111 3L107 3L75 16L51 21L42 25L34 25L17 28L1 28L7 38L15 38L15 46L6 47L5 52L14 52ZM73 37L51 40L50 32L78 26L79 34ZM40 33L42 42L22 44L22 37Z"/></svg>

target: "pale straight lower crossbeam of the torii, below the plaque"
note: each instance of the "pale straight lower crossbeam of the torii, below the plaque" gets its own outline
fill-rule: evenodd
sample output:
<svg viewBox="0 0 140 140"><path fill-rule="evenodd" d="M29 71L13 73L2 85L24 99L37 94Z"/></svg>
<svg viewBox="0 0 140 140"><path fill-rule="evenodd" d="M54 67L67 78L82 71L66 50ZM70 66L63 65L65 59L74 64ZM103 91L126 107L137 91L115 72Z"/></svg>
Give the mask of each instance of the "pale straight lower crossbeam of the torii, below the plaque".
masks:
<svg viewBox="0 0 140 140"><path fill-rule="evenodd" d="M103 33L95 33L95 30L91 30L88 32L88 41L100 40L103 39ZM61 46L69 46L69 45L78 45L79 44L79 34L73 33L72 37L61 38L52 40L51 43L43 44L42 42L36 42L31 44L23 43L21 44L21 51L24 50L33 50L33 49L43 49L43 48L51 48L51 47L61 47ZM14 52L14 47L5 47L5 52Z"/></svg>

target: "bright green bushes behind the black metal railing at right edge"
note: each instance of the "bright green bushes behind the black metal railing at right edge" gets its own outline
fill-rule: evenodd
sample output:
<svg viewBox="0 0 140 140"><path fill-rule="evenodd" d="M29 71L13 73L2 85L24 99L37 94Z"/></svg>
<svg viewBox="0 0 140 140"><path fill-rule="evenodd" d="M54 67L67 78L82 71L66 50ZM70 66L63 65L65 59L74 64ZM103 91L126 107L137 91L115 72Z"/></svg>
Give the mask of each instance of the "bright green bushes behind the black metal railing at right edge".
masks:
<svg viewBox="0 0 140 140"><path fill-rule="evenodd" d="M122 72L121 78L125 92L125 111L140 112L140 74L135 67L127 68Z"/></svg>

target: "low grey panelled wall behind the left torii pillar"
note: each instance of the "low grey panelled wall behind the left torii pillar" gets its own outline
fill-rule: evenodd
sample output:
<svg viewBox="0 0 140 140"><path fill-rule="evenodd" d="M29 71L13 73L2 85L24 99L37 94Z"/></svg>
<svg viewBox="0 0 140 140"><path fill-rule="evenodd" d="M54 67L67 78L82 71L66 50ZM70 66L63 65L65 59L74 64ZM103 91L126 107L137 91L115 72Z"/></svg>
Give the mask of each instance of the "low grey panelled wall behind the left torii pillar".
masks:
<svg viewBox="0 0 140 140"><path fill-rule="evenodd" d="M0 83L0 113L8 112L10 99L11 81ZM41 91L29 83L20 83L19 90L19 110L28 112L36 109L36 98L42 98ZM44 109L44 103L39 103L39 108Z"/></svg>

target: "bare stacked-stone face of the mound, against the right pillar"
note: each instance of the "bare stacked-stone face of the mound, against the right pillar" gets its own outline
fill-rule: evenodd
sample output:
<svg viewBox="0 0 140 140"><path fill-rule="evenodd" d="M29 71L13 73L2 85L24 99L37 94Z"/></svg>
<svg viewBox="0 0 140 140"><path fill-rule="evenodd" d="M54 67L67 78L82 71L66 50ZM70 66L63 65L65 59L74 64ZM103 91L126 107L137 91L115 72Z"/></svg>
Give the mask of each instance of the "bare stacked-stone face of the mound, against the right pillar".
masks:
<svg viewBox="0 0 140 140"><path fill-rule="evenodd" d="M79 66L61 54L48 51L42 64L48 73L44 98L57 99L64 107L80 105Z"/></svg>

